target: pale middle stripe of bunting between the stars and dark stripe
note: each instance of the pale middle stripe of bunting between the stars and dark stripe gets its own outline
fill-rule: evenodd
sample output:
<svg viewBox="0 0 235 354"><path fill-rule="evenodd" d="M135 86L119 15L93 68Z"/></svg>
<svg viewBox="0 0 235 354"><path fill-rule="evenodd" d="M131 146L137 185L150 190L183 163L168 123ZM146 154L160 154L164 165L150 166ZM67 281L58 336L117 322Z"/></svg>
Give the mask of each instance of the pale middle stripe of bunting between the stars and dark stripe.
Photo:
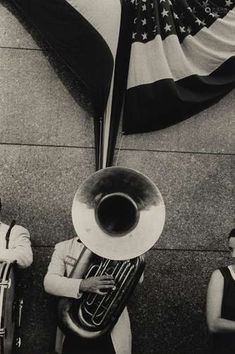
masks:
<svg viewBox="0 0 235 354"><path fill-rule="evenodd" d="M235 55L234 37L235 11L229 11L210 28L188 35L181 44L176 35L164 40L157 35L150 42L134 42L127 89L162 79L177 81L193 74L206 76Z"/></svg>

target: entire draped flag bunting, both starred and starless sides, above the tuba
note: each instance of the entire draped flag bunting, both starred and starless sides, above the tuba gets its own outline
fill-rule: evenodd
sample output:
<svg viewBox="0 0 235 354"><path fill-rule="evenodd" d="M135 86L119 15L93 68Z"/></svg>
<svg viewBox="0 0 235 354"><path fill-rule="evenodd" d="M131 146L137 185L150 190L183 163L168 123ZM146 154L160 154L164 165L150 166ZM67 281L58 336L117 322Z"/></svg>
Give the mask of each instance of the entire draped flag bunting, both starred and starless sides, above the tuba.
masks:
<svg viewBox="0 0 235 354"><path fill-rule="evenodd" d="M109 115L112 151L121 113L157 130L235 87L235 0L12 1Z"/></svg>

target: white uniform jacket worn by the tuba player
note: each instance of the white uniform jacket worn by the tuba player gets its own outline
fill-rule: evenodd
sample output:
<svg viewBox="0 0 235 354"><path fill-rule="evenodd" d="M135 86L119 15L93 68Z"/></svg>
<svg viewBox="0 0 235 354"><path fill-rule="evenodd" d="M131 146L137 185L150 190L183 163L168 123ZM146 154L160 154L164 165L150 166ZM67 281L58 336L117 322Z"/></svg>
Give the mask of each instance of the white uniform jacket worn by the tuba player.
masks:
<svg viewBox="0 0 235 354"><path fill-rule="evenodd" d="M78 237L56 244L49 264L47 275L44 278L46 292L56 296L79 298L81 279L67 278L73 269L83 244L78 242ZM116 354L131 354L131 326L127 309L123 310L119 320L111 331L112 342ZM59 329L56 334L56 352L61 354L64 335Z"/></svg>

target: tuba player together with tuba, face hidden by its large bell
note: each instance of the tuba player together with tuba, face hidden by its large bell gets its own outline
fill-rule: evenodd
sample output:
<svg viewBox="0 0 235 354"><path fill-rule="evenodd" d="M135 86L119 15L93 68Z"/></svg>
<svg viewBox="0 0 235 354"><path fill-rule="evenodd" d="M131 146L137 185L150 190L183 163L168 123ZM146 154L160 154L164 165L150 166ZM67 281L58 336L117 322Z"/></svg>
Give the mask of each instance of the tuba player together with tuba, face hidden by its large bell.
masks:
<svg viewBox="0 0 235 354"><path fill-rule="evenodd" d="M80 185L72 207L79 239L56 244L44 278L45 290L61 297L57 353L131 354L126 302L164 216L162 195L138 171L109 167Z"/></svg>

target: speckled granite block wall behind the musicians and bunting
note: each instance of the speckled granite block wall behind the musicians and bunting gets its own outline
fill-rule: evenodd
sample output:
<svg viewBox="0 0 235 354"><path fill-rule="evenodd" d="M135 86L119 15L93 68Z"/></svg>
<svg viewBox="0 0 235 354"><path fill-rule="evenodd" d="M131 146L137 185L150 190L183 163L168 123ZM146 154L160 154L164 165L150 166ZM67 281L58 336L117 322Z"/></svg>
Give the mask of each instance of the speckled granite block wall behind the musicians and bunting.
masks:
<svg viewBox="0 0 235 354"><path fill-rule="evenodd" d="M76 79L23 16L0 2L1 219L30 230L34 263L22 272L22 354L54 348L56 299L42 280L54 244L75 236L71 202L95 171L92 108ZM129 304L133 354L206 354L207 282L231 262L235 92L159 132L123 138L119 166L152 178L167 210L147 252L145 282ZM117 146L119 141L117 142Z"/></svg>

